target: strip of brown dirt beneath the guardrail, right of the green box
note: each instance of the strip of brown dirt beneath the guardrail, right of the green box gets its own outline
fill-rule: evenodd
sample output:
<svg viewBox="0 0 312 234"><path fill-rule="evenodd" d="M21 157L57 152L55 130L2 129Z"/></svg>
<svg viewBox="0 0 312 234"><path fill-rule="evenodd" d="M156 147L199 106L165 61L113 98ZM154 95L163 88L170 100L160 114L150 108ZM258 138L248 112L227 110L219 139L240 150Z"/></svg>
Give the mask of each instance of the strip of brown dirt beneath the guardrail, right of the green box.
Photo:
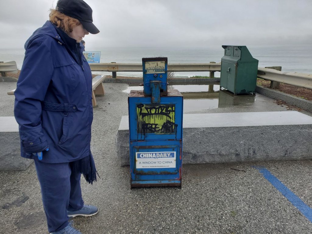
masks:
<svg viewBox="0 0 312 234"><path fill-rule="evenodd" d="M269 80L263 80L260 78L257 79L257 85L261 85L263 87L270 89L270 84L271 84L271 81ZM286 94L294 95L299 98L303 98L305 100L312 101L312 90L310 89L300 88L300 87L286 85L286 84L280 84L279 87L276 87L273 89L286 93Z"/></svg>

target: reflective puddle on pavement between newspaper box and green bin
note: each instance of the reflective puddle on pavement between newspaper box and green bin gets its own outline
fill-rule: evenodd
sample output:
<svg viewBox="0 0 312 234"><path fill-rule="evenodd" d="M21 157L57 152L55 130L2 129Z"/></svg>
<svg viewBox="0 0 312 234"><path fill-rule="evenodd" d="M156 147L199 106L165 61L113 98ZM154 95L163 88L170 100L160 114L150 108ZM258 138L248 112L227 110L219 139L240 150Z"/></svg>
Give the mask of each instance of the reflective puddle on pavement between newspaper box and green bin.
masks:
<svg viewBox="0 0 312 234"><path fill-rule="evenodd" d="M168 90L176 89L183 95L183 112L210 110L230 106L248 106L255 102L255 95L233 95L228 90L220 90L220 85L168 85ZM143 86L129 86L122 90L143 90Z"/></svg>

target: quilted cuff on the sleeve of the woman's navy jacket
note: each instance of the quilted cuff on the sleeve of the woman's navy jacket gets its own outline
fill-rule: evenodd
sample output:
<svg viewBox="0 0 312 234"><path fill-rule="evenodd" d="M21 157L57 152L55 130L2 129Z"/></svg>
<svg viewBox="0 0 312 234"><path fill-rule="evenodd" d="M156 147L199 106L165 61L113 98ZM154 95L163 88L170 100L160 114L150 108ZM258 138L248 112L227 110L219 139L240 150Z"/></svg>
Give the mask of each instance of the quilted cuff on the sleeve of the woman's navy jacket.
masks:
<svg viewBox="0 0 312 234"><path fill-rule="evenodd" d="M25 130L19 130L22 149L25 153L41 152L48 148L48 143L42 132L41 124Z"/></svg>

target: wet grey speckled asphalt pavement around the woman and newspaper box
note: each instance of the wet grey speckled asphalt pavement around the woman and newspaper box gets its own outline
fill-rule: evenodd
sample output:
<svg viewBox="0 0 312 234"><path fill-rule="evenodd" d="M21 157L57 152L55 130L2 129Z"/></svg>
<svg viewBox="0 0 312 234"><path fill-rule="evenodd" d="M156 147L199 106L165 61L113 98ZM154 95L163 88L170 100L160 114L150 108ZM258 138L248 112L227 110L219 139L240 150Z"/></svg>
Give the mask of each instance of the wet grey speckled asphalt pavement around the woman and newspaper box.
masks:
<svg viewBox="0 0 312 234"><path fill-rule="evenodd" d="M15 86L0 83L0 116L13 116L14 96L6 92ZM121 116L128 115L128 94L122 92L128 85L104 86L105 95L96 97L91 140L100 178L93 185L81 179L85 203L99 207L99 213L73 219L83 234L312 233L312 160L183 164L181 188L130 189L129 167L119 166L115 146ZM287 110L260 94L255 103L197 113ZM254 166L273 177L265 178ZM270 178L293 195L286 198ZM0 172L0 185L0 233L48 233L34 164L25 171ZM306 207L297 208L297 198Z"/></svg>

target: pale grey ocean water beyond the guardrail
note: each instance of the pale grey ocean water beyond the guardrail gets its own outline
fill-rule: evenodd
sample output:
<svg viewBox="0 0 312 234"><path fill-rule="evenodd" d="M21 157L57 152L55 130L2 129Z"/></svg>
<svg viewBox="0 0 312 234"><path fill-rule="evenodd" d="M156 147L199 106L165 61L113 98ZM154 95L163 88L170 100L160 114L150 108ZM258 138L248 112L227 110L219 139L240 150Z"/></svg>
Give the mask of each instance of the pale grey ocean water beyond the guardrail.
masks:
<svg viewBox="0 0 312 234"><path fill-rule="evenodd" d="M95 48L95 49L94 49ZM251 55L259 60L260 67L282 66L284 72L312 74L312 47L296 46L247 46ZM88 46L86 46L88 51ZM143 57L164 56L168 63L221 62L222 46L217 47L94 47L90 51L101 51L101 63L141 63ZM16 61L22 67L24 49L0 49L0 61ZM111 72L93 72L111 75ZM142 72L117 72L117 76L142 77ZM209 76L209 72L176 72L175 76ZM219 72L215 77L220 76Z"/></svg>

